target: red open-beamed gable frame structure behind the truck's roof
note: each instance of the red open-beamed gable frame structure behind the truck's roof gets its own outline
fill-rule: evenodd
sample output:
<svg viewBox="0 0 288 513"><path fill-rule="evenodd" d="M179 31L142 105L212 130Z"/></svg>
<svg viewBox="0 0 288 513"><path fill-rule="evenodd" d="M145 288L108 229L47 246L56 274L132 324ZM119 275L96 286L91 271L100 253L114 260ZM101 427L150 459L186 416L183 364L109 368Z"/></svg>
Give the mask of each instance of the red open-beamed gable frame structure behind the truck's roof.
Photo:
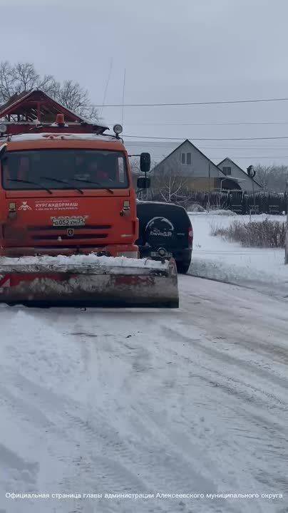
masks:
<svg viewBox="0 0 288 513"><path fill-rule="evenodd" d="M53 100L41 90L24 91L14 95L8 102L0 107L0 119L7 126L5 135L16 135L31 131L41 132L49 126L49 132L58 132L59 127L53 127L57 114L65 116L63 132L102 134L108 127L91 123L80 115L73 113L68 108ZM52 125L52 126L51 126Z"/></svg>

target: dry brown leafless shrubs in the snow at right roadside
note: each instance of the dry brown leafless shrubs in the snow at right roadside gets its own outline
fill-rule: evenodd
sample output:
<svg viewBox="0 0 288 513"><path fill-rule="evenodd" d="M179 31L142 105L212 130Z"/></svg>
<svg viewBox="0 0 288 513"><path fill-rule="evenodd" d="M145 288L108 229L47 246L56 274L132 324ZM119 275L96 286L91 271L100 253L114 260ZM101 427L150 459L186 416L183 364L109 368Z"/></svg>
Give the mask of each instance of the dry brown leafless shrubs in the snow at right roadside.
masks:
<svg viewBox="0 0 288 513"><path fill-rule="evenodd" d="M211 226L211 235L240 242L246 247L284 247L286 223L279 221L235 221L229 227Z"/></svg>

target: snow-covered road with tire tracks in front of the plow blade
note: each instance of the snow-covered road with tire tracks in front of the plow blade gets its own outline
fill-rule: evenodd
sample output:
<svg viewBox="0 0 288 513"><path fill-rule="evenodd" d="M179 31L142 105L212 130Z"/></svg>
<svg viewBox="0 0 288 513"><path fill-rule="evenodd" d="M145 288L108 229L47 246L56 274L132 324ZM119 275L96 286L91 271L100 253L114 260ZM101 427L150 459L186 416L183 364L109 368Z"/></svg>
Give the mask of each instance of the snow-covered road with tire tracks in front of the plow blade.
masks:
<svg viewBox="0 0 288 513"><path fill-rule="evenodd" d="M180 291L179 311L0 308L1 513L288 511L287 299ZM104 498L129 492L155 498ZM181 492L205 497L156 498Z"/></svg>

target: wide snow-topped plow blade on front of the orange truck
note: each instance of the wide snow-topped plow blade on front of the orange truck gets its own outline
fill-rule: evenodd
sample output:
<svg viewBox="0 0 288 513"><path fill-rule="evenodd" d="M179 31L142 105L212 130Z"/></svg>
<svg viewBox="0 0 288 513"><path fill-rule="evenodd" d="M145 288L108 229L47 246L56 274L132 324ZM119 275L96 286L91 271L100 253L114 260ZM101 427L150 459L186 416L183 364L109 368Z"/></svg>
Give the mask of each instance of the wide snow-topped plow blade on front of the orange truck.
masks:
<svg viewBox="0 0 288 513"><path fill-rule="evenodd" d="M178 308L175 261L124 257L22 257L0 261L0 302L9 305Z"/></svg>

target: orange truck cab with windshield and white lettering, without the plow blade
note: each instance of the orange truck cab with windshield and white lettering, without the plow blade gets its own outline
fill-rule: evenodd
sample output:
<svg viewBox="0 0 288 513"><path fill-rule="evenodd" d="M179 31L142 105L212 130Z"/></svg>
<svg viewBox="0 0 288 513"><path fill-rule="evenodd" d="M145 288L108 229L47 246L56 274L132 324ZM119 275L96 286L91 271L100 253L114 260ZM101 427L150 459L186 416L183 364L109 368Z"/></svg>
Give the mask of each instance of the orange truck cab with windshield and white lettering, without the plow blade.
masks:
<svg viewBox="0 0 288 513"><path fill-rule="evenodd" d="M13 135L1 149L0 255L138 257L138 218L120 138Z"/></svg>

